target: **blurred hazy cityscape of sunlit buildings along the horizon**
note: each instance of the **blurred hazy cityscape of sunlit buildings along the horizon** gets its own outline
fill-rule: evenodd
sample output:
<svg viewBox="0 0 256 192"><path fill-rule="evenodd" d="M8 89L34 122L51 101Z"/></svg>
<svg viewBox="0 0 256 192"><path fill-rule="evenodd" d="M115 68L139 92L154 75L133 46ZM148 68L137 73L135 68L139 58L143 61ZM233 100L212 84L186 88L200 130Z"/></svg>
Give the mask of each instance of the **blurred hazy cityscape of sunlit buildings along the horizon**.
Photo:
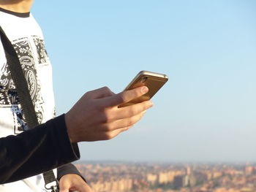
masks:
<svg viewBox="0 0 256 192"><path fill-rule="evenodd" d="M255 192L256 164L83 162L95 192Z"/></svg>

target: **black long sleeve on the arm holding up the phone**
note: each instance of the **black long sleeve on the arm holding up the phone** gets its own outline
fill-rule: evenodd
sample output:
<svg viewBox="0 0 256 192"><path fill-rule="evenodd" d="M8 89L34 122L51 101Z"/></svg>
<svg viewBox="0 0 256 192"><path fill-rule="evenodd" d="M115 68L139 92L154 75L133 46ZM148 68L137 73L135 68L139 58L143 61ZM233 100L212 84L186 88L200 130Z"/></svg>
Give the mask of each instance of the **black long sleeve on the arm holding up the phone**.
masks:
<svg viewBox="0 0 256 192"><path fill-rule="evenodd" d="M0 139L0 184L46 172L78 158L78 145L70 143L61 115L17 136Z"/></svg>

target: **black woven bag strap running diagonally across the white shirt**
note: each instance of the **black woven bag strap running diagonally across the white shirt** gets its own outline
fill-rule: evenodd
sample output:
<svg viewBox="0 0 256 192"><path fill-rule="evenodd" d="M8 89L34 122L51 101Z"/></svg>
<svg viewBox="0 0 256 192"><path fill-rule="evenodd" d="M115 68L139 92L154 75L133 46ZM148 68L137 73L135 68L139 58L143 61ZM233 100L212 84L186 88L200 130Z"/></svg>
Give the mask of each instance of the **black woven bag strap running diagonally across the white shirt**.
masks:
<svg viewBox="0 0 256 192"><path fill-rule="evenodd" d="M20 65L18 55L12 46L12 43L8 39L4 30L0 26L1 42L4 46L4 53L9 64L9 69L12 74L12 80L15 83L16 90L18 92L18 98L20 101L21 108L26 118L26 123L29 128L38 126L37 115L34 110L34 104L29 93L29 86L26 82L26 78L23 74L23 70ZM43 173L45 180L45 188L52 191L58 191L58 180L56 180L53 170ZM56 183L56 185L48 186L49 184Z"/></svg>

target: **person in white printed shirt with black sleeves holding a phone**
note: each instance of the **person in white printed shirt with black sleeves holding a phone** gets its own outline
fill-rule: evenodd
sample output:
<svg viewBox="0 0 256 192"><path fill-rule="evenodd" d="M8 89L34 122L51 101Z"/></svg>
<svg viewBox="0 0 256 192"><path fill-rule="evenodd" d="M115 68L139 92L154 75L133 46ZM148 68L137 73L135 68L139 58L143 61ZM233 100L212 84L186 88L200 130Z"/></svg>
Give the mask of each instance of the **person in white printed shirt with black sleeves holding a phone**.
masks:
<svg viewBox="0 0 256 192"><path fill-rule="evenodd" d="M0 191L42 191L42 176L10 183L61 166L60 191L89 192L91 188L68 164L79 158L76 142L116 137L142 118L152 106L145 101L118 105L148 91L146 87L118 94L108 88L86 93L65 115L53 120L54 100L48 55L39 26L29 13L33 0L0 0L0 26L18 54L41 126L26 131L17 91L0 42ZM21 134L20 134L21 133ZM17 136L9 136L18 134ZM49 146L51 146L49 148ZM58 150L58 151L56 151Z"/></svg>

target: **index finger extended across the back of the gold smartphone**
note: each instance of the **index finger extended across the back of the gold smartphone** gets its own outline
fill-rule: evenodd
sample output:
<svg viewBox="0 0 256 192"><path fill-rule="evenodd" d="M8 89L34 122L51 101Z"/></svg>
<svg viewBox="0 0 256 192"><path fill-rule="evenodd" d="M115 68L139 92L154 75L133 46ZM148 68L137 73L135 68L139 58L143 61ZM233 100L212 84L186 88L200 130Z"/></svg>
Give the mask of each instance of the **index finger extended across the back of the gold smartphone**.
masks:
<svg viewBox="0 0 256 192"><path fill-rule="evenodd" d="M114 107L143 96L146 93L148 93L148 88L146 86L142 86L129 91L122 91L121 93L110 97L106 97L105 99L102 99L102 102L104 103L105 107Z"/></svg>

